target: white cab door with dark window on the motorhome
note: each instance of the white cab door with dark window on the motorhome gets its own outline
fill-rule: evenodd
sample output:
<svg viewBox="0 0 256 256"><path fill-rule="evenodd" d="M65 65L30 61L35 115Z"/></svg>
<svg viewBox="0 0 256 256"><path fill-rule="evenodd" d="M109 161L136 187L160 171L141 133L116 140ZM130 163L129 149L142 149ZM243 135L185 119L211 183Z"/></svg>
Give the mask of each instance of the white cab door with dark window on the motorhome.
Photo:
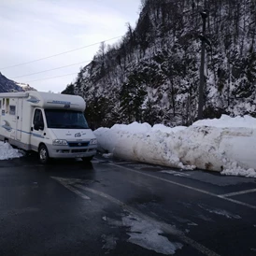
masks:
<svg viewBox="0 0 256 256"><path fill-rule="evenodd" d="M35 108L34 116L31 125L31 146L32 149L38 149L40 142L44 140L45 137L45 121L43 112L40 108Z"/></svg>

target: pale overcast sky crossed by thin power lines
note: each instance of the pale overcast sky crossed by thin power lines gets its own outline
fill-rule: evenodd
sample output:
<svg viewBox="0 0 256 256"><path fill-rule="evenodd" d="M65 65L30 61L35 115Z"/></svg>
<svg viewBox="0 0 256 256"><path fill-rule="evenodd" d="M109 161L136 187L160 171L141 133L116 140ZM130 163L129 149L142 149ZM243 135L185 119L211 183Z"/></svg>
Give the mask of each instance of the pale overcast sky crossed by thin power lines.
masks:
<svg viewBox="0 0 256 256"><path fill-rule="evenodd" d="M140 2L0 0L0 72L17 82L29 83L37 91L62 92L75 80L79 68L92 60L100 42L110 45L118 42L121 38L107 40L123 36L127 22L135 27ZM75 50L92 44L96 45ZM68 50L75 51L24 64ZM16 64L22 65L5 68ZM76 65L21 78L70 64ZM73 75L52 78L67 74Z"/></svg>

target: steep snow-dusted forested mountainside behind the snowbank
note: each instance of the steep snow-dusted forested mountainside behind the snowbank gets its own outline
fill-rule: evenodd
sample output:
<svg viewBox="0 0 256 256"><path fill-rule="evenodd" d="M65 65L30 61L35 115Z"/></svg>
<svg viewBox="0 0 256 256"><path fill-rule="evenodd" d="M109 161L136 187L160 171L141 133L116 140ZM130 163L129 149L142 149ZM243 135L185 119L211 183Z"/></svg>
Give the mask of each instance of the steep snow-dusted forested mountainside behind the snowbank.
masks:
<svg viewBox="0 0 256 256"><path fill-rule="evenodd" d="M204 40L204 118L256 117L255 35L255 0L144 0L135 28L128 23L116 45L103 42L63 93L84 97L92 128L190 125Z"/></svg>

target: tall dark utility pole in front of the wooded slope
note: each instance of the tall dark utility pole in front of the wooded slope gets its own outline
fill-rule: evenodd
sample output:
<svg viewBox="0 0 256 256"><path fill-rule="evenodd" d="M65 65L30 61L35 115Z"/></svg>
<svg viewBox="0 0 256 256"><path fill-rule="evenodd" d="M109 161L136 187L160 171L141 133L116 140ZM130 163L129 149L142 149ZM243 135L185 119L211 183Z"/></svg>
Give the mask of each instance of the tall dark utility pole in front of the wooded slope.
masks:
<svg viewBox="0 0 256 256"><path fill-rule="evenodd" d="M205 55L206 55L206 18L208 13L206 10L200 12L203 19L203 36L200 36L202 41L201 47L201 65L200 65L200 85L199 85L199 97L198 97L198 112L197 120L203 119L203 107L204 107L204 92L205 92Z"/></svg>

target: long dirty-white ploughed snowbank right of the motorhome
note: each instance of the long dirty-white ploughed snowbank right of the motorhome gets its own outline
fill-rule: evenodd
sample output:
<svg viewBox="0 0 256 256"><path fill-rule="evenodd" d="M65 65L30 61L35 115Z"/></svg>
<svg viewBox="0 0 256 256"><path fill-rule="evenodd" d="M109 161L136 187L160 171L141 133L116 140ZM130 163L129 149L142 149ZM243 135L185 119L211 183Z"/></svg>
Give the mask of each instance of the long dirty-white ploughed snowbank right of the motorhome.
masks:
<svg viewBox="0 0 256 256"><path fill-rule="evenodd" d="M190 127L133 122L94 131L99 150L122 159L255 177L256 119L196 121Z"/></svg>

